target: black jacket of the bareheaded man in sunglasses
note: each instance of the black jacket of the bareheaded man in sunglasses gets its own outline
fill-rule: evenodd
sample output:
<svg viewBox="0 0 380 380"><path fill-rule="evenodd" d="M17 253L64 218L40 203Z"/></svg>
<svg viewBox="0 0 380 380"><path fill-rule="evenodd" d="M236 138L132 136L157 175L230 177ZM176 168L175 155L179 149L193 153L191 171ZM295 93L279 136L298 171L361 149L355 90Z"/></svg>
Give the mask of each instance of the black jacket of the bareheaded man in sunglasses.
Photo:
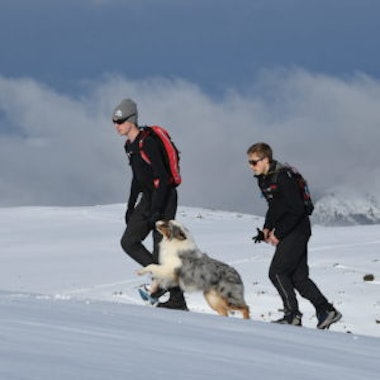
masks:
<svg viewBox="0 0 380 380"><path fill-rule="evenodd" d="M310 235L310 220L291 172L284 170L278 161L272 161L268 174L255 177L268 202L264 228L275 229L274 234L279 240L294 230Z"/></svg>

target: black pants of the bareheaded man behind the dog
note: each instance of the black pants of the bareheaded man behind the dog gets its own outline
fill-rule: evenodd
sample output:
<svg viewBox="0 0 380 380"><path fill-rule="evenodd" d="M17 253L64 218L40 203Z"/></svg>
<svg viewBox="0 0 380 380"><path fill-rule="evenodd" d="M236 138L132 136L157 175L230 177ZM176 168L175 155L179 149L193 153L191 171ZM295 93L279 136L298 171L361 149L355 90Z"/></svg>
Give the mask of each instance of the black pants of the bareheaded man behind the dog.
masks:
<svg viewBox="0 0 380 380"><path fill-rule="evenodd" d="M299 313L295 290L309 300L317 313L327 310L330 304L309 278L307 243L310 235L293 231L276 247L269 278L281 296L285 314Z"/></svg>

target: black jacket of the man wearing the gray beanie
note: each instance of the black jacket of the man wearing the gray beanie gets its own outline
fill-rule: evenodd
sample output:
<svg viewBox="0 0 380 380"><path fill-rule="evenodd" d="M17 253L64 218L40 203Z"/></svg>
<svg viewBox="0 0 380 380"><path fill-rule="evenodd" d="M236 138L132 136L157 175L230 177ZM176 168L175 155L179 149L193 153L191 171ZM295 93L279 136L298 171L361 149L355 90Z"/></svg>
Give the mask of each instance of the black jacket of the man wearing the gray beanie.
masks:
<svg viewBox="0 0 380 380"><path fill-rule="evenodd" d="M168 192L172 188L170 175L166 169L163 152L159 142L153 137L144 139L144 152L151 163L147 163L141 156L139 142L142 132L133 142L125 143L125 151L132 168L132 184L128 200L128 210L135 207L140 193L143 193L151 202L151 216L160 215L165 207Z"/></svg>

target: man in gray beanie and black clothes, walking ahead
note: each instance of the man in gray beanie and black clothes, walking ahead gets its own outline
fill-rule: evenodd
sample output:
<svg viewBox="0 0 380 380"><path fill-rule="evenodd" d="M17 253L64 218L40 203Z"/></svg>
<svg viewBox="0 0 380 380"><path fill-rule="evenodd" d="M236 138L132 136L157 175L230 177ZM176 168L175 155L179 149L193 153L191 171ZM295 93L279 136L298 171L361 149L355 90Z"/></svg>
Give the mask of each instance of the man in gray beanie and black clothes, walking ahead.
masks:
<svg viewBox="0 0 380 380"><path fill-rule="evenodd" d="M175 219L178 205L176 186L171 183L170 173L164 162L159 142L153 136L144 137L144 155L140 143L143 128L138 127L137 105L132 99L123 99L112 112L112 121L117 132L127 137L125 151L132 169L132 182L127 203L125 221L127 227L121 238L123 250L142 266L158 263L158 243L161 239L155 230L158 220ZM153 231L153 252L143 241ZM150 296L157 300L157 307L188 310L183 292L179 287L170 288L169 300L159 302L166 290L159 290Z"/></svg>

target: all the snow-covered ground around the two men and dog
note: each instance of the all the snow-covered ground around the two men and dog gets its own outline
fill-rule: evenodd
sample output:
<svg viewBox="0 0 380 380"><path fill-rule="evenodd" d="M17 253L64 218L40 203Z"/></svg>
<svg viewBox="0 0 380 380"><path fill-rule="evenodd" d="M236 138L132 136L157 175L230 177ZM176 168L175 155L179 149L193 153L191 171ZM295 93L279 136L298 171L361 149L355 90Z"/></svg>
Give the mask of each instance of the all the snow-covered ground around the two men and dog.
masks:
<svg viewBox="0 0 380 380"><path fill-rule="evenodd" d="M217 315L201 292L185 292L189 312L144 305L149 277L119 245L123 208L0 209L2 379L378 378L379 225L314 229L311 278L343 315L321 331L301 297L303 327L270 323L282 316L274 248L251 240L262 218L236 212L181 207L179 221L240 273L251 319Z"/></svg>

